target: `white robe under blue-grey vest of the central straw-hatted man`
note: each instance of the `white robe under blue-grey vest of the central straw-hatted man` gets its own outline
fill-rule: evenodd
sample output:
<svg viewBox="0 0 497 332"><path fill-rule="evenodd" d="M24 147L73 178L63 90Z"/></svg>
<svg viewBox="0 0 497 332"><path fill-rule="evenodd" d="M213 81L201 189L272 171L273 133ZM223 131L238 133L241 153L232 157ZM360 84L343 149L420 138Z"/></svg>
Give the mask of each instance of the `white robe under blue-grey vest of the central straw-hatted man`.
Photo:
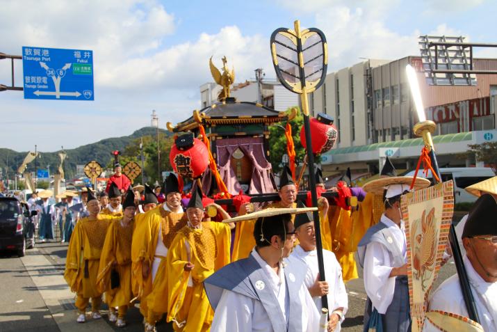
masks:
<svg viewBox="0 0 497 332"><path fill-rule="evenodd" d="M270 285L268 292L274 292L278 300L279 307L285 317L291 319L288 310L288 297L299 297L302 303L302 329L303 332L316 332L319 326L319 314L313 303L307 287L302 283L298 294L288 294L284 267L280 264L279 275L261 258L259 253L252 250L252 256L259 263ZM291 264L291 260L290 264ZM288 262L288 261L287 261ZM298 264L301 264L298 262ZM286 290L286 291L285 291ZM229 326L229 330L226 330ZM230 290L223 290L218 306L215 308L215 315L211 325L211 331L230 332L272 332L270 318L261 301L256 301L250 297L245 297Z"/></svg>

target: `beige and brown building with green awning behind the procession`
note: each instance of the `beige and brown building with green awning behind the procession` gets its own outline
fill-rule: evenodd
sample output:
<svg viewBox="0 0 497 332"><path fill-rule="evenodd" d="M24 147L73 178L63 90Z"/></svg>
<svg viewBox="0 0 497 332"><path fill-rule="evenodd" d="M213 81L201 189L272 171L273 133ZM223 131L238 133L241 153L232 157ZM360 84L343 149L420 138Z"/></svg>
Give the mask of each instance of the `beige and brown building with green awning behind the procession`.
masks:
<svg viewBox="0 0 497 332"><path fill-rule="evenodd" d="M377 173L386 155L400 169L415 166L423 142L412 132L418 118L407 64L418 70L427 119L437 123L434 135L441 137L434 139L435 148L437 142L444 144L437 149L440 166L482 166L454 155L485 137L497 140L497 75L477 74L475 86L429 86L421 58L407 56L396 61L370 59L327 74L325 84L311 95L311 113L333 116L339 129L336 147L322 156L325 176L347 167L356 175ZM496 69L497 59L475 59L474 68Z"/></svg>

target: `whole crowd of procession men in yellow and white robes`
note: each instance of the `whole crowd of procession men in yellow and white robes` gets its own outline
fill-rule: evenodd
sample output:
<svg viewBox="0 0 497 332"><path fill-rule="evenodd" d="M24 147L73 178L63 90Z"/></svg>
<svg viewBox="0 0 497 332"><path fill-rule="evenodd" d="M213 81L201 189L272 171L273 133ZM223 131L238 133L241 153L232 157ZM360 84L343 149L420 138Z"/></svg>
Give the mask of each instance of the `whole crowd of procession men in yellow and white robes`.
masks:
<svg viewBox="0 0 497 332"><path fill-rule="evenodd" d="M316 180L324 186L319 173ZM496 177L490 181L478 189L480 198L459 237L480 323L484 331L497 331ZM350 185L344 182L342 187ZM387 161L380 179L364 186L368 195L381 192L383 205L379 220L366 228L357 246L368 295L365 331L411 331L400 212L400 198L410 184L412 177L397 176ZM109 321L118 327L126 326L127 309L139 303L145 331L156 331L161 319L174 331L341 330L348 310L345 275L351 273L344 262L350 258L334 253L327 199L320 198L319 207L298 202L288 168L280 177L280 200L262 210L238 201L237 216L206 197L200 186L189 198L181 196L174 174L162 186L163 203L157 188L145 184L137 195L124 185L110 182L99 195L86 189L77 209L69 206L71 195L58 203L77 211L77 216L63 214L65 223L78 220L65 237L70 243L64 275L76 293L77 322L88 319L90 302L90 317L101 318L103 299ZM428 185L419 178L414 189ZM38 206L42 215L51 210ZM319 276L312 209L319 210L325 280ZM457 275L434 292L430 310L468 317ZM437 322L427 319L425 331L445 331Z"/></svg>

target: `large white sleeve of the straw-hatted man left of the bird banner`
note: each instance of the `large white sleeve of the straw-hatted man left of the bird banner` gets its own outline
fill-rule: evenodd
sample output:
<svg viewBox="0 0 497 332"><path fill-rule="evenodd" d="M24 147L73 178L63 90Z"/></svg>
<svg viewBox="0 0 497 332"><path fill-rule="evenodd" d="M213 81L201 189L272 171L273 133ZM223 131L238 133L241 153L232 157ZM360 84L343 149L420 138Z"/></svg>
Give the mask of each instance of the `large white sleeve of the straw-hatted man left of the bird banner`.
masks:
<svg viewBox="0 0 497 332"><path fill-rule="evenodd" d="M364 288L378 313L386 313L393 299L396 278L390 278L392 262L386 248L377 242L366 246L364 257Z"/></svg>

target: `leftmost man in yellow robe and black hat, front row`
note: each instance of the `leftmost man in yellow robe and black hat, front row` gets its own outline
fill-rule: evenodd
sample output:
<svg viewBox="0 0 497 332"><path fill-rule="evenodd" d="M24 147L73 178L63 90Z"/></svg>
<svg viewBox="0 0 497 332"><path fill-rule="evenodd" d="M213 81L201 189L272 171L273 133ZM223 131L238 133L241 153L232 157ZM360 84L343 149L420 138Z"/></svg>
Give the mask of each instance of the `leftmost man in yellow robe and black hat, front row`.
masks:
<svg viewBox="0 0 497 332"><path fill-rule="evenodd" d="M91 299L92 318L99 319L101 292L97 290L97 274L99 269L101 249L111 221L118 217L101 215L99 200L88 190L86 203L89 216L76 223L67 249L64 278L71 291L76 293L76 308L78 308L79 323L86 321L85 310Z"/></svg>

